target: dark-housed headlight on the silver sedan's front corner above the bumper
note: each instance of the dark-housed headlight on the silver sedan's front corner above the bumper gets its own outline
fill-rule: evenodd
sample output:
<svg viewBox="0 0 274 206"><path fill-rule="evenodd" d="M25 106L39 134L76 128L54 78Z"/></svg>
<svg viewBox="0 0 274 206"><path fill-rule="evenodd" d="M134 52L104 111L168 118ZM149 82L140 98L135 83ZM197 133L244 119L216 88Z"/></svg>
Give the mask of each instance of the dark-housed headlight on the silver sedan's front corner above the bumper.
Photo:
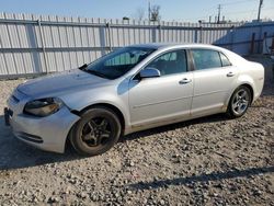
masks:
<svg viewBox="0 0 274 206"><path fill-rule="evenodd" d="M62 105L62 101L58 98L33 100L25 104L24 112L41 117L48 116L59 111Z"/></svg>

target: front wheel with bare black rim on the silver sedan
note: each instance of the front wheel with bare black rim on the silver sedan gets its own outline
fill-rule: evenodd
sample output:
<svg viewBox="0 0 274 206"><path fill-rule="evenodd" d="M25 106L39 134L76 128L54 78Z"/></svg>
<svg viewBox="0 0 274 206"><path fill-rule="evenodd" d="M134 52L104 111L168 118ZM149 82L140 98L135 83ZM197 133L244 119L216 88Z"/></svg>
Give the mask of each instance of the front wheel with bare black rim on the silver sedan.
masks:
<svg viewBox="0 0 274 206"><path fill-rule="evenodd" d="M93 107L81 115L69 139L79 154L98 156L110 150L119 139L121 123L107 107Z"/></svg>

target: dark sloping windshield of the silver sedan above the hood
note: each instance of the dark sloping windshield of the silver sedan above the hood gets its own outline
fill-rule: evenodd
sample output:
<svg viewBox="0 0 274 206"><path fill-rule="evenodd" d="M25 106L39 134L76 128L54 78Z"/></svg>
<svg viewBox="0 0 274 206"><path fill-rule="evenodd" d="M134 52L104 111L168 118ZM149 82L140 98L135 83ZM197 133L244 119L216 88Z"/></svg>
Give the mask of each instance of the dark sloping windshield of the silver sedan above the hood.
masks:
<svg viewBox="0 0 274 206"><path fill-rule="evenodd" d="M82 70L102 78L116 79L125 75L155 50L153 48L125 47L99 58Z"/></svg>

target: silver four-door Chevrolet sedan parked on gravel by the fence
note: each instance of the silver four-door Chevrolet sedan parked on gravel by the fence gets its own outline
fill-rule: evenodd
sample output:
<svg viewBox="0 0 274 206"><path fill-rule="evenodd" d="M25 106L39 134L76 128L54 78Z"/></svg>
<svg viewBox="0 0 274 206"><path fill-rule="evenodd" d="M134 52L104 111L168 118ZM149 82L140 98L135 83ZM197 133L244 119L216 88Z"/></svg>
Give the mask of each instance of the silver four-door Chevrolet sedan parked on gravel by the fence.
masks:
<svg viewBox="0 0 274 206"><path fill-rule="evenodd" d="M216 113L242 116L264 68L210 45L134 45L20 84L4 108L19 139L64 152L105 152L121 136Z"/></svg>

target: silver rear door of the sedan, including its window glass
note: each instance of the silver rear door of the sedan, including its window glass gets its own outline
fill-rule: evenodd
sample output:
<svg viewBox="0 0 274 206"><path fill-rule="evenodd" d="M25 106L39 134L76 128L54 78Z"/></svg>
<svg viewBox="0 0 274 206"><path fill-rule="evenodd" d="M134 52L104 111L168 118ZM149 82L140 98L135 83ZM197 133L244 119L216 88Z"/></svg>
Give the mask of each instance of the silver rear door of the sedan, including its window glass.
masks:
<svg viewBox="0 0 274 206"><path fill-rule="evenodd" d="M191 53L195 68L192 115L221 112L238 69L218 50L195 48Z"/></svg>

